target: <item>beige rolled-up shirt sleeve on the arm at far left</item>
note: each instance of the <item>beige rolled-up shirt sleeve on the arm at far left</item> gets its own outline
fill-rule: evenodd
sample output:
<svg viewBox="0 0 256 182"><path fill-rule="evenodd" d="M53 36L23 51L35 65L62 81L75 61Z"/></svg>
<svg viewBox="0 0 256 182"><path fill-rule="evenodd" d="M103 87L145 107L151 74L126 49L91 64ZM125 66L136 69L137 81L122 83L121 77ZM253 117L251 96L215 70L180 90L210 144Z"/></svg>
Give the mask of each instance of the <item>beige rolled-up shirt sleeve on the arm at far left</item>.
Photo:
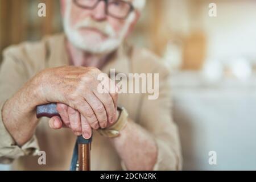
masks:
<svg viewBox="0 0 256 182"><path fill-rule="evenodd" d="M0 68L0 163L11 163L23 155L36 155L39 151L36 137L32 137L23 146L16 145L2 121L2 109L5 102L28 80L26 62L15 56L16 48L11 47L3 52Z"/></svg>

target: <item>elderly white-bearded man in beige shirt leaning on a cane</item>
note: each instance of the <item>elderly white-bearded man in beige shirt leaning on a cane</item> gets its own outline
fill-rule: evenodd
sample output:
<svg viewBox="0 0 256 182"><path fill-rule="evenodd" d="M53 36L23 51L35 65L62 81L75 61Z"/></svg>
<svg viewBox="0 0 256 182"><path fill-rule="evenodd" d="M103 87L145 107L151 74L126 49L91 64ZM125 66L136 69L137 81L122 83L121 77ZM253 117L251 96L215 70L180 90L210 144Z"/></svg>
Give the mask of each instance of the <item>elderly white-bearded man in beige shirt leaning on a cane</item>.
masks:
<svg viewBox="0 0 256 182"><path fill-rule="evenodd" d="M13 162L22 170L67 170L76 136L88 139L93 133L92 170L181 169L169 73L151 52L125 42L145 1L60 2L65 35L3 52L0 163ZM115 84L99 93L97 77L110 69L126 75L159 73L159 97L118 95ZM57 103L60 117L38 120L36 106L49 103ZM125 109L117 109L120 105ZM122 127L113 129L117 123ZM39 151L46 152L45 165L38 163Z"/></svg>

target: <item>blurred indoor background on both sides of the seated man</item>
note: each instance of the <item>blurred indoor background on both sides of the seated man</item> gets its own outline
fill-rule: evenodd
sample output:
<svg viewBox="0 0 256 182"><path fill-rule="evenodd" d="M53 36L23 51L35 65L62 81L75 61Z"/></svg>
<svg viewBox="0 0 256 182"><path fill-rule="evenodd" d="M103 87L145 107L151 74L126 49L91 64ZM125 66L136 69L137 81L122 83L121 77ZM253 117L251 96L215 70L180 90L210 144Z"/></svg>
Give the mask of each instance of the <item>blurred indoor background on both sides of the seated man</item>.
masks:
<svg viewBox="0 0 256 182"><path fill-rule="evenodd" d="M58 0L0 2L1 52L62 31ZM161 56L172 73L185 170L256 169L255 10L254 0L147 0L129 40ZM209 151L216 151L216 165L208 163Z"/></svg>

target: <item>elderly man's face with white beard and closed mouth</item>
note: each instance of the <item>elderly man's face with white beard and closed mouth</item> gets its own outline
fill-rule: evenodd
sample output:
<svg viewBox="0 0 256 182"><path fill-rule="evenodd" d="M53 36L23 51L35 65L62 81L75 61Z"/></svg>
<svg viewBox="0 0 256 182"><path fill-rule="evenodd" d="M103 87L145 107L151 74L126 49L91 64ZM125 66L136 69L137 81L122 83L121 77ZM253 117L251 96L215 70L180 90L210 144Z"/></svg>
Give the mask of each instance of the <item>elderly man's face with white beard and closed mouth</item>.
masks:
<svg viewBox="0 0 256 182"><path fill-rule="evenodd" d="M97 2L97 0L80 0L77 2L86 5L86 3ZM127 2L132 2L132 0L127 0ZM64 30L69 42L90 53L114 51L127 36L137 15L133 11L126 19L113 18L105 13L105 1L98 2L94 9L83 9L72 0L61 0L61 4L64 15ZM118 4L115 6L118 7Z"/></svg>

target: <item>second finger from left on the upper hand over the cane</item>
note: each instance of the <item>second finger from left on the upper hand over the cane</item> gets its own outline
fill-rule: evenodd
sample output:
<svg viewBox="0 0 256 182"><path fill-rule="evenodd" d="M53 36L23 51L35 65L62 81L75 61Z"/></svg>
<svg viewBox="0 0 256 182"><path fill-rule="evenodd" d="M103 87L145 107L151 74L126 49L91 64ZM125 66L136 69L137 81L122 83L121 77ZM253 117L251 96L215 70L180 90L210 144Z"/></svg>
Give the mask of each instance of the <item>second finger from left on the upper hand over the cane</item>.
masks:
<svg viewBox="0 0 256 182"><path fill-rule="evenodd" d="M92 107L100 127L104 129L108 125L108 117L106 109L102 102L95 96L93 92L85 94L86 101Z"/></svg>

